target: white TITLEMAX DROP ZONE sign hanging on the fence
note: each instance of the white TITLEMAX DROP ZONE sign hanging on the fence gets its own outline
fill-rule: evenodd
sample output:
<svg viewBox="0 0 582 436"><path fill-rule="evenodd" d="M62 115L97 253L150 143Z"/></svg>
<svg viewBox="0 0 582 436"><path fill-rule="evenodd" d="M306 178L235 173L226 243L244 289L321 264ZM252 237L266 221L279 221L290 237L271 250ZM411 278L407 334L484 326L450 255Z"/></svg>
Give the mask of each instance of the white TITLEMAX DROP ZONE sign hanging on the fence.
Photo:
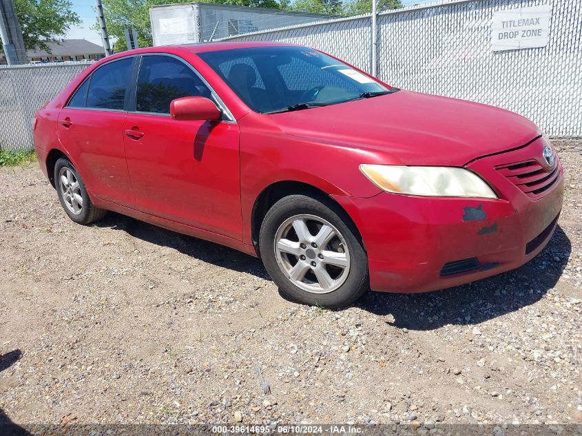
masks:
<svg viewBox="0 0 582 436"><path fill-rule="evenodd" d="M550 5L498 10L493 14L491 48L519 50L545 47L550 41Z"/></svg>

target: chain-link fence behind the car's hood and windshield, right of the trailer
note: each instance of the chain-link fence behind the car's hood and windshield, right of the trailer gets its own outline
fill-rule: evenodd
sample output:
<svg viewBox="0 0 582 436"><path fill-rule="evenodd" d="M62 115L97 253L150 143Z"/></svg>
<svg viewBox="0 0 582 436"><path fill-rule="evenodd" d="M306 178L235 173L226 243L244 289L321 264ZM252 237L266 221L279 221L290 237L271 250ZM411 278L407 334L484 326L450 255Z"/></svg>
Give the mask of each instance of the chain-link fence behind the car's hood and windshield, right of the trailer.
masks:
<svg viewBox="0 0 582 436"><path fill-rule="evenodd" d="M548 45L492 51L494 12L539 5L552 8ZM581 11L580 0L457 0L384 12L378 76L407 90L503 107L550 136L582 136ZM227 40L309 45L371 71L370 15Z"/></svg>

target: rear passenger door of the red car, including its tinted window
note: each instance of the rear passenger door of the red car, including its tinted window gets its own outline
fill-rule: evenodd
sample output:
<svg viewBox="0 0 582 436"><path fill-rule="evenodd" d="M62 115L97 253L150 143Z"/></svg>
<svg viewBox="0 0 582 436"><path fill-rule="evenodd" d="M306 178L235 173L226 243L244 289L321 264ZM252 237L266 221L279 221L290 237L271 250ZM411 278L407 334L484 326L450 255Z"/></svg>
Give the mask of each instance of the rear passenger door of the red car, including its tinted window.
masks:
<svg viewBox="0 0 582 436"><path fill-rule="evenodd" d="M134 203L123 147L125 94L134 59L117 59L92 72L59 113L57 127L87 189L124 205Z"/></svg>

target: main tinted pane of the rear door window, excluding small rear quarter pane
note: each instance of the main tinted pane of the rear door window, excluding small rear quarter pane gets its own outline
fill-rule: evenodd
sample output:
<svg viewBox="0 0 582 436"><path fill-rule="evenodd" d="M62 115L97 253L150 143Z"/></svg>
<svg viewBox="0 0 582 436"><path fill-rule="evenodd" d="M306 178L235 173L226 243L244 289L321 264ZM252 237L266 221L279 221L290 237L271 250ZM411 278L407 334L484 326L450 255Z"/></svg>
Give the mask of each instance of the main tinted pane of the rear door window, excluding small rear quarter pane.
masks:
<svg viewBox="0 0 582 436"><path fill-rule="evenodd" d="M123 110L125 89L132 71L132 58L107 63L92 75L87 107Z"/></svg>

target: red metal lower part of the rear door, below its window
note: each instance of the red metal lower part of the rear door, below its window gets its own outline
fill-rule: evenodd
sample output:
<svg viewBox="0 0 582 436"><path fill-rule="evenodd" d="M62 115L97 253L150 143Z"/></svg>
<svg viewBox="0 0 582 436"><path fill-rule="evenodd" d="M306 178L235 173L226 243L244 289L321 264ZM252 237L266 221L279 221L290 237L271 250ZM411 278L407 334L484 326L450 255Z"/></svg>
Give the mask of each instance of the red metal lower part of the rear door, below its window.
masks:
<svg viewBox="0 0 582 436"><path fill-rule="evenodd" d="M123 147L127 112L65 107L59 114L59 140L90 191L104 200L134 204Z"/></svg>

